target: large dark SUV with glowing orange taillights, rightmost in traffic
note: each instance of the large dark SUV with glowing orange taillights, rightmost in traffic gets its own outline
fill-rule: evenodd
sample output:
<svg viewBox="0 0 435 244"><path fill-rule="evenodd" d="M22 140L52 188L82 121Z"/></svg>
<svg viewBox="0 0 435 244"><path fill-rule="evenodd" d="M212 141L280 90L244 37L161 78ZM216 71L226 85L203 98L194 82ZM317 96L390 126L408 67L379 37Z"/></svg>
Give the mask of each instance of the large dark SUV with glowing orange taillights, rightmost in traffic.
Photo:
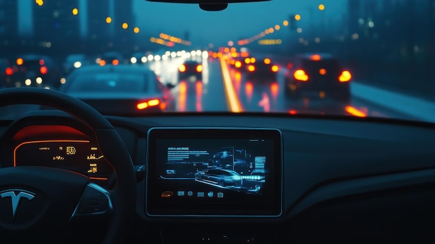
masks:
<svg viewBox="0 0 435 244"><path fill-rule="evenodd" d="M299 54L288 63L286 95L302 97L331 97L350 100L350 71L340 66L331 54Z"/></svg>

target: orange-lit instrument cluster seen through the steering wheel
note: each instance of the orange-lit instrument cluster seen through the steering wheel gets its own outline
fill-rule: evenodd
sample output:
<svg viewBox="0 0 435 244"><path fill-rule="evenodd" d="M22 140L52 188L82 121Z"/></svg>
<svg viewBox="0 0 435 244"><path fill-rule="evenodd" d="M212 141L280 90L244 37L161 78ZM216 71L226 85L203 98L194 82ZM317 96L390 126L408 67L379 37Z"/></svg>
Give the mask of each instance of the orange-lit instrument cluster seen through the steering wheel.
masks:
<svg viewBox="0 0 435 244"><path fill-rule="evenodd" d="M114 184L113 168L92 131L72 117L56 120L24 117L11 124L1 138L2 166L58 168L83 174L101 186Z"/></svg>

